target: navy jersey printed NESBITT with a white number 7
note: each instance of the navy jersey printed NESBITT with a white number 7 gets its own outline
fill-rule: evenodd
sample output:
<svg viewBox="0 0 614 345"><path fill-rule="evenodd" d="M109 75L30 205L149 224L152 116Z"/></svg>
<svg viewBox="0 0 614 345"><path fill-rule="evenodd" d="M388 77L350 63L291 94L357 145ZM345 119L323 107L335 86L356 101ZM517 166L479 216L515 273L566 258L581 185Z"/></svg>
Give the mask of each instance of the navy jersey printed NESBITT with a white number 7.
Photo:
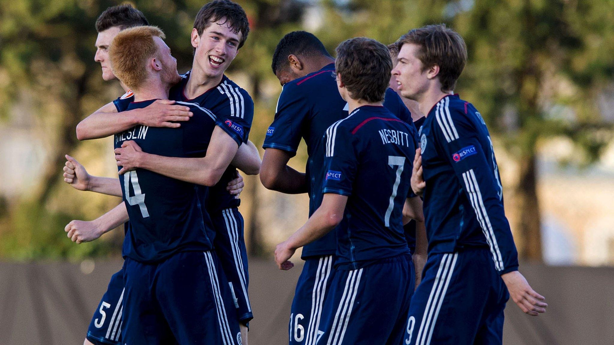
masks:
<svg viewBox="0 0 614 345"><path fill-rule="evenodd" d="M337 228L340 269L359 269L409 254L403 232L405 199L418 145L413 125L385 107L362 106L326 132L323 193L348 196Z"/></svg>

